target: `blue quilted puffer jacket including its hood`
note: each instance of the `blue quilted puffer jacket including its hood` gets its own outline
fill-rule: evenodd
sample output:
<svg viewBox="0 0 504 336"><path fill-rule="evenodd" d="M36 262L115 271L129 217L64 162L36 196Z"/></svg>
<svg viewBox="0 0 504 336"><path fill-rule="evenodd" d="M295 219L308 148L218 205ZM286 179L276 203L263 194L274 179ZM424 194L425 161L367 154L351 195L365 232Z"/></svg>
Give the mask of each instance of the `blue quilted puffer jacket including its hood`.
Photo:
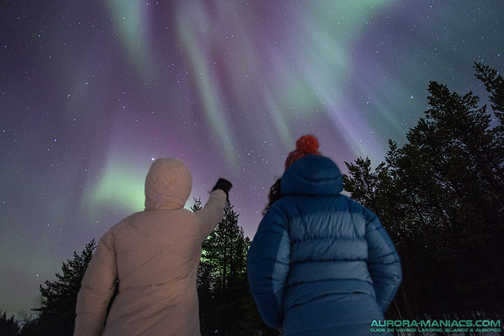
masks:
<svg viewBox="0 0 504 336"><path fill-rule="evenodd" d="M378 335L371 321L384 318L401 282L380 220L342 190L329 158L297 160L250 245L250 292L284 335Z"/></svg>

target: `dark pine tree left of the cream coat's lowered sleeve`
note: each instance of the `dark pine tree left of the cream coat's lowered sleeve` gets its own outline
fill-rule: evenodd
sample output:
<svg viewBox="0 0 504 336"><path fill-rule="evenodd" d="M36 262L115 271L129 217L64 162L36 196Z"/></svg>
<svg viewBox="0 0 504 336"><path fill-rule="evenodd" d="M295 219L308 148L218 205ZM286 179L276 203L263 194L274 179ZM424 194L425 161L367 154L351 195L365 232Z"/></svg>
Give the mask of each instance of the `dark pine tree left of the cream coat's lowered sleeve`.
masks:
<svg viewBox="0 0 504 336"><path fill-rule="evenodd" d="M39 306L33 309L38 316L23 326L21 334L66 336L74 333L77 294L95 248L93 239L81 255L74 251L74 259L63 262L62 274L56 273L57 280L45 281L45 287L40 285Z"/></svg>

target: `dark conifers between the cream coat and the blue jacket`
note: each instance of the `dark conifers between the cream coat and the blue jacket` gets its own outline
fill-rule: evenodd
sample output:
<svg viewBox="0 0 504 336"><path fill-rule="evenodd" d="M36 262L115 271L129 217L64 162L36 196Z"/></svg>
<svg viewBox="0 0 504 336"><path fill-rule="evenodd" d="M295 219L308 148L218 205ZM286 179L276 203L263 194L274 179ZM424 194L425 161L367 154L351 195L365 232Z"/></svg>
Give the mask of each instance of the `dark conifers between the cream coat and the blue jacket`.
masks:
<svg viewBox="0 0 504 336"><path fill-rule="evenodd" d="M201 209L195 198L191 209ZM202 244L198 297L202 335L277 335L262 321L248 290L246 255L250 239L238 225L238 214L226 201L224 218ZM273 332L273 333L272 333Z"/></svg>

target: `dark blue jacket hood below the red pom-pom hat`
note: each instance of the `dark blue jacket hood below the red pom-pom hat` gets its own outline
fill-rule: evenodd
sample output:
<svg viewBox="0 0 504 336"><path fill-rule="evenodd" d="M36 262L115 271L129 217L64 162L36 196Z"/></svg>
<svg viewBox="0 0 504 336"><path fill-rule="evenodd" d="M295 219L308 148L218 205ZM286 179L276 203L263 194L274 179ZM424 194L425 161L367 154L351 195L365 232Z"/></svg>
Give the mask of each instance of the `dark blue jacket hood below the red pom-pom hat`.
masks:
<svg viewBox="0 0 504 336"><path fill-rule="evenodd" d="M336 195L343 191L338 166L329 158L307 155L296 160L282 176L280 195Z"/></svg>

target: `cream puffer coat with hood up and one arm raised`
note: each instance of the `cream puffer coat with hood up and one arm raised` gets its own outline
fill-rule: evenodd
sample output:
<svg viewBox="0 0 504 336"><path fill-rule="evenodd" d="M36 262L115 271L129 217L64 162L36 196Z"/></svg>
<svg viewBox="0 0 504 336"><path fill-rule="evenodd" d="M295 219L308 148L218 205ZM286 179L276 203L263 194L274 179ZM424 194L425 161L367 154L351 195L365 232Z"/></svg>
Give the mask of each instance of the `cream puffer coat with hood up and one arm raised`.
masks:
<svg viewBox="0 0 504 336"><path fill-rule="evenodd" d="M192 177L177 159L156 160L145 181L145 211L103 235L77 298L75 336L200 335L196 277L201 243L222 220L218 189L196 212L183 207ZM119 280L119 293L106 310Z"/></svg>

